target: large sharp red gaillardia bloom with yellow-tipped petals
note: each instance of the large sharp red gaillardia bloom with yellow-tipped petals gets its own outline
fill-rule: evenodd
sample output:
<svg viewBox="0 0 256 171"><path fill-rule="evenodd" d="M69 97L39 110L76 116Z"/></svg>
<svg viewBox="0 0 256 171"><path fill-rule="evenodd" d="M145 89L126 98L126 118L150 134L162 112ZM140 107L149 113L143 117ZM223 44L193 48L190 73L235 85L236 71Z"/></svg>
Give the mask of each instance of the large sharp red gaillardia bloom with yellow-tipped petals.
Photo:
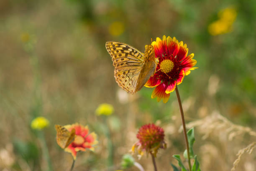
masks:
<svg viewBox="0 0 256 171"><path fill-rule="evenodd" d="M156 67L156 73L149 78L146 87L156 87L151 98L157 101L163 99L164 103L169 100L170 94L174 91L176 85L182 83L185 75L189 75L190 70L194 70L196 60L193 59L194 53L187 55L187 44L179 42L175 37L163 36L163 40L156 38L151 43L154 47L155 56L159 63Z"/></svg>

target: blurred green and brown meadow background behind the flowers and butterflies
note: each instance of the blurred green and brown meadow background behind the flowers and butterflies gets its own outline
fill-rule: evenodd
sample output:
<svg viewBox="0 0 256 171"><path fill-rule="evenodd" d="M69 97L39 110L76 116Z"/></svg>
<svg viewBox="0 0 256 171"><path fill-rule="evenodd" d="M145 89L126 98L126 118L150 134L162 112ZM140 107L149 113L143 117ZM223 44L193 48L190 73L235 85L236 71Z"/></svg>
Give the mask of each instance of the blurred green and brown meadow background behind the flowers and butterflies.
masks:
<svg viewBox="0 0 256 171"><path fill-rule="evenodd" d="M160 171L172 170L170 163L177 164L172 155L185 149L176 95L164 104L151 99L153 88L133 96L120 89L105 49L108 40L143 52L151 38L175 36L187 44L188 54L195 53L199 67L179 85L186 121L217 111L255 130L255 21L255 0L1 0L0 169L47 170L42 141L30 127L33 118L44 116L50 122L44 136L54 170L72 164L72 156L56 144L54 124L76 122L97 133L99 144L95 152L78 153L74 170L120 169L146 123L165 129L167 149L159 151L156 162ZM113 166L107 162L105 124L95 115L101 103L115 110L107 118ZM202 171L230 170L238 150L255 140L238 133L230 141L228 126L217 127L205 139L200 126L195 128L194 152ZM150 157L134 158L153 170ZM243 156L237 170L255 171L255 158L255 152Z"/></svg>

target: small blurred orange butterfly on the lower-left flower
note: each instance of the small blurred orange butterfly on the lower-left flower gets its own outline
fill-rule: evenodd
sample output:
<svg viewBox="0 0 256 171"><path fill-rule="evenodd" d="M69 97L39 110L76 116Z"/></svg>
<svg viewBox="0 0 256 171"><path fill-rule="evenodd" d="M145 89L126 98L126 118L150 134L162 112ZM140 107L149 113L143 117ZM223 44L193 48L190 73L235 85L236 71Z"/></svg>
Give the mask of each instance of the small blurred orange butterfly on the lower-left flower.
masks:
<svg viewBox="0 0 256 171"><path fill-rule="evenodd" d="M70 143L74 141L76 136L75 129L68 131L64 126L55 125L57 131L56 141L61 148L66 148Z"/></svg>

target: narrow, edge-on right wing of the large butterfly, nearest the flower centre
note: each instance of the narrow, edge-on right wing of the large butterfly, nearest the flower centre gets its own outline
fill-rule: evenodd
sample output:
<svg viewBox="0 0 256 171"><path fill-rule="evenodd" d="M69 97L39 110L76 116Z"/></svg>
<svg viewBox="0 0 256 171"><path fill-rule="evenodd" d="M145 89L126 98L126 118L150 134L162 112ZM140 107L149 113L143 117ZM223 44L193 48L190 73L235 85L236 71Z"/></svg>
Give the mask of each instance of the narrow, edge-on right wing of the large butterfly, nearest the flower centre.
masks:
<svg viewBox="0 0 256 171"><path fill-rule="evenodd" d="M151 75L153 76L156 72L157 59L152 45L145 46L144 58L145 62L138 77L136 91L141 90Z"/></svg>

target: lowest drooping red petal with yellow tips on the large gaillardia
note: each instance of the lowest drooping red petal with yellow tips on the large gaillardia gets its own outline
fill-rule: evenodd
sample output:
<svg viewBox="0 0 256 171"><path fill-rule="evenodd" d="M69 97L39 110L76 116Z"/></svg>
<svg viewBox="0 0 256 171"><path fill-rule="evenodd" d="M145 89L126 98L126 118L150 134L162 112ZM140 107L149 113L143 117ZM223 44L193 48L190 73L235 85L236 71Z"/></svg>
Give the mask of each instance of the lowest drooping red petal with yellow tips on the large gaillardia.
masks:
<svg viewBox="0 0 256 171"><path fill-rule="evenodd" d="M161 99L163 99L163 102L166 103L170 98L170 94L165 93L166 88L167 82L159 84L152 92L151 98L157 98L158 102L161 101Z"/></svg>

